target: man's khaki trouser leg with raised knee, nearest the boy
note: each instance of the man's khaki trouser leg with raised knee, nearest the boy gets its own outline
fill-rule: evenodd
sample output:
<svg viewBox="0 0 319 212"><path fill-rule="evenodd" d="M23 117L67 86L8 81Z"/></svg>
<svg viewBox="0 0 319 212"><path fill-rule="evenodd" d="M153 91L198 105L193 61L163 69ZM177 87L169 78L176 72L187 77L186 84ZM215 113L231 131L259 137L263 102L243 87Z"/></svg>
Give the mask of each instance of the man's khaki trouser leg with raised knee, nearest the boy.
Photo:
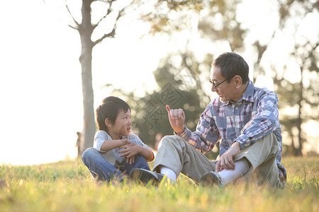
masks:
<svg viewBox="0 0 319 212"><path fill-rule="evenodd" d="M159 166L168 167L178 176L179 173L199 182L206 172L215 171L216 164L208 160L203 153L186 143L179 136L164 136L155 158L154 169Z"/></svg>

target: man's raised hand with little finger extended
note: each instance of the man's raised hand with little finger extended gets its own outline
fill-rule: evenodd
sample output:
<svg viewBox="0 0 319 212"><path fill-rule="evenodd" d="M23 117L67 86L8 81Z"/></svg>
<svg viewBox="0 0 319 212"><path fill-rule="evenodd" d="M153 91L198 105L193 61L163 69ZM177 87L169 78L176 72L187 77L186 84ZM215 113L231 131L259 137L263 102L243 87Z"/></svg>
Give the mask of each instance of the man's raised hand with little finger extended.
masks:
<svg viewBox="0 0 319 212"><path fill-rule="evenodd" d="M181 108L171 110L169 105L166 105L166 110L169 116L169 123L177 134L184 130L185 113Z"/></svg>

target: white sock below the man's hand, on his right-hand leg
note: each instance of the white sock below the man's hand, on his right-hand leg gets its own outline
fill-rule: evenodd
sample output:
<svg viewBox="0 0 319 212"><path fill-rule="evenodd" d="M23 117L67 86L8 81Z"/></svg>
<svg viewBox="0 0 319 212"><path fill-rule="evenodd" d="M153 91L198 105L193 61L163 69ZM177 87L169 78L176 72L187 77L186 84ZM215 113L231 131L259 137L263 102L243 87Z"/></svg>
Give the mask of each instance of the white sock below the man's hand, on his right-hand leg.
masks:
<svg viewBox="0 0 319 212"><path fill-rule="evenodd" d="M235 162L235 170L222 170L218 172L218 175L223 178L223 184L228 184L245 175L248 170L250 170L250 166L248 165L247 160L242 158Z"/></svg>

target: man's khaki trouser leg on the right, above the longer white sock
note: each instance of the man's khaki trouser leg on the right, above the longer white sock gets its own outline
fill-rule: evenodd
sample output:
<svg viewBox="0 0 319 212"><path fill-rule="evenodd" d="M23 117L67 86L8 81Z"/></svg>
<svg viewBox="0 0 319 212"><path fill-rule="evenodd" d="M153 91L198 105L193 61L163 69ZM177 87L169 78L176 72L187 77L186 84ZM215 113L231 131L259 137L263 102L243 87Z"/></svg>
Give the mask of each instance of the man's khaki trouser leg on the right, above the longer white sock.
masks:
<svg viewBox="0 0 319 212"><path fill-rule="evenodd" d="M250 163L250 171L255 172L260 182L268 182L273 187L280 184L278 167L276 165L276 155L279 150L276 136L271 133L251 146L243 149L236 155L234 161L245 158Z"/></svg>

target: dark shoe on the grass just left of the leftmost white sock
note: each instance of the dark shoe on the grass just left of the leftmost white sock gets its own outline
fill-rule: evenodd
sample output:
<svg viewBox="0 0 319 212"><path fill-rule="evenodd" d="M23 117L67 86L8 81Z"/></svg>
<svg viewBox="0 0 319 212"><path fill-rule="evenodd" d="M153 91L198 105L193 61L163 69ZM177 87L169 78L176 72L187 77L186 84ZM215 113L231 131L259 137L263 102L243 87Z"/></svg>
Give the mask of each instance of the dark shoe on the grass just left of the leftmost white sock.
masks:
<svg viewBox="0 0 319 212"><path fill-rule="evenodd" d="M143 183L147 182L160 182L163 179L164 175L157 173L157 172L152 172L150 170L145 170L145 169L140 169L140 168L135 168L130 171L130 179L133 181L140 181Z"/></svg>

